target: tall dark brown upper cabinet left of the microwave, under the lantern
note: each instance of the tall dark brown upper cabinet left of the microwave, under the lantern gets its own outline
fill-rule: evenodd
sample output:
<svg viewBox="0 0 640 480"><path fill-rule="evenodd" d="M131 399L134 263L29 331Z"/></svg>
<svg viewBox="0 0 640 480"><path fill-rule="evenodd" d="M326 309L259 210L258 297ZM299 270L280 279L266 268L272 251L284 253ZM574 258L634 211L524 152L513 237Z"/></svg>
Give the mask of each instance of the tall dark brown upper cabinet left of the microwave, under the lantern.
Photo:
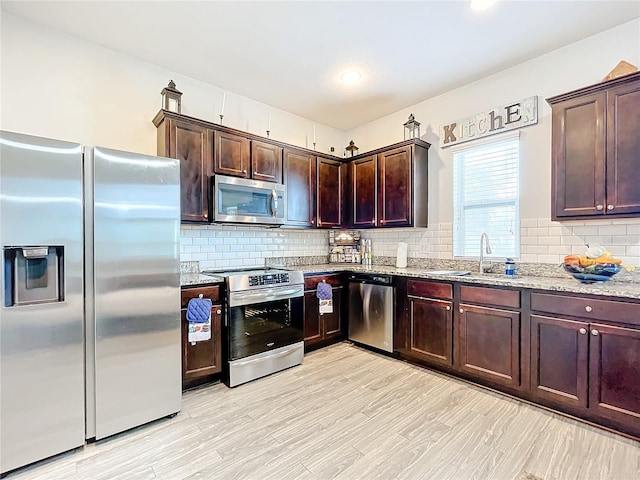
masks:
<svg viewBox="0 0 640 480"><path fill-rule="evenodd" d="M180 160L183 222L209 222L210 138L206 127L176 118L156 117L158 155ZM156 122L154 119L154 123Z"/></svg>

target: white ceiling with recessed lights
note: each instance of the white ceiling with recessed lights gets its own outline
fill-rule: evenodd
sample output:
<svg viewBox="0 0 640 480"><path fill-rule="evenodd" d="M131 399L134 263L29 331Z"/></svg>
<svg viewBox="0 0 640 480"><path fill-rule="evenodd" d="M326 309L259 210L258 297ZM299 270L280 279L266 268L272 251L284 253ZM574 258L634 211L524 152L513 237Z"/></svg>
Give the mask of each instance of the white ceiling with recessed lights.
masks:
<svg viewBox="0 0 640 480"><path fill-rule="evenodd" d="M463 0L3 0L2 9L349 130L640 17L640 0L499 0L485 12ZM353 67L363 79L346 87L339 76Z"/></svg>

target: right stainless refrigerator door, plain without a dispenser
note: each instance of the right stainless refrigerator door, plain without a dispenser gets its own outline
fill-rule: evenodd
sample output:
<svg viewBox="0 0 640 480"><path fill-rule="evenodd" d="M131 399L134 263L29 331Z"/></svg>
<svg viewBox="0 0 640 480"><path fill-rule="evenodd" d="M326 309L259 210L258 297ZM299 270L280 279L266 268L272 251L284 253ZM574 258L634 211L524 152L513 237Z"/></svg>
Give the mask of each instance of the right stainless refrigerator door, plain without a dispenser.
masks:
<svg viewBox="0 0 640 480"><path fill-rule="evenodd" d="M94 179L87 435L100 439L180 410L180 170L178 160L98 147L85 163Z"/></svg>

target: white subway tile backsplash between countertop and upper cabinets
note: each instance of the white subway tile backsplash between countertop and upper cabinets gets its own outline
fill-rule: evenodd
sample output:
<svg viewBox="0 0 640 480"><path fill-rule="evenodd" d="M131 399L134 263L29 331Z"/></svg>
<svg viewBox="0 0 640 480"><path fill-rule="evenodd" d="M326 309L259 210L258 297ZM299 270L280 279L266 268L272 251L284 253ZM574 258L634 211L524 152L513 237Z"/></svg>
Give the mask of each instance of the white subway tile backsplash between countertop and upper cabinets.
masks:
<svg viewBox="0 0 640 480"><path fill-rule="evenodd" d="M362 230L371 239L374 257L395 257L398 242L408 244L408 257L452 259L451 223L429 228ZM625 265L640 267L640 219L553 222L522 219L520 258L526 263L559 264L569 253L582 254L585 244L607 248ZM327 230L258 226L182 225L180 259L200 263L202 270L277 263L285 257L326 257Z"/></svg>

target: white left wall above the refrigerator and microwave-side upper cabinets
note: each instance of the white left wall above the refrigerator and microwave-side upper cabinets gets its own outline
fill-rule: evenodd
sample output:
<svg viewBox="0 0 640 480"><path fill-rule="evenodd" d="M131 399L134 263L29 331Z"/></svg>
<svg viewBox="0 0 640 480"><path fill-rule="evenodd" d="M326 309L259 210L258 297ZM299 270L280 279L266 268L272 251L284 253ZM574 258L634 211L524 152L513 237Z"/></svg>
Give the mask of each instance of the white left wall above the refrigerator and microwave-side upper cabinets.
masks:
<svg viewBox="0 0 640 480"><path fill-rule="evenodd" d="M0 128L137 153L156 153L151 120L170 79L182 113L219 122L224 90L97 44L1 14ZM226 92L224 124L312 148L314 122ZM317 149L342 151L345 134L316 124Z"/></svg>

